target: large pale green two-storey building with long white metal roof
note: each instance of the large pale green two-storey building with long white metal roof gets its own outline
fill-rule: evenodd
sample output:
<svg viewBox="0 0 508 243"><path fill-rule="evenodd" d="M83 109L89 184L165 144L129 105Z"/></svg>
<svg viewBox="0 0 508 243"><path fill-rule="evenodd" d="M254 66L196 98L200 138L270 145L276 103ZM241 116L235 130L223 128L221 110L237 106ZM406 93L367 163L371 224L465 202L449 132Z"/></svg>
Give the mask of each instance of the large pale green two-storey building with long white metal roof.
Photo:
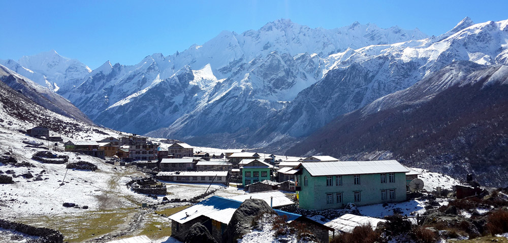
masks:
<svg viewBox="0 0 508 243"><path fill-rule="evenodd" d="M339 209L406 200L409 172L396 160L302 163L296 168L300 208Z"/></svg>

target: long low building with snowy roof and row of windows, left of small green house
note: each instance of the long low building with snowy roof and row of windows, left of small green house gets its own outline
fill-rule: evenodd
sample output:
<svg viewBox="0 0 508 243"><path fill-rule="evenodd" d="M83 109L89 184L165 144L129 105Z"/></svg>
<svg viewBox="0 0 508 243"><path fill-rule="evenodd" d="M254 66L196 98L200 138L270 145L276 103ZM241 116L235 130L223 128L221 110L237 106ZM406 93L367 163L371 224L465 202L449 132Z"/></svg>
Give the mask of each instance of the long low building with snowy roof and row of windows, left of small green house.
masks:
<svg viewBox="0 0 508 243"><path fill-rule="evenodd" d="M229 172L227 171L175 171L160 172L155 178L163 181L175 181L185 183L222 183L228 184Z"/></svg>

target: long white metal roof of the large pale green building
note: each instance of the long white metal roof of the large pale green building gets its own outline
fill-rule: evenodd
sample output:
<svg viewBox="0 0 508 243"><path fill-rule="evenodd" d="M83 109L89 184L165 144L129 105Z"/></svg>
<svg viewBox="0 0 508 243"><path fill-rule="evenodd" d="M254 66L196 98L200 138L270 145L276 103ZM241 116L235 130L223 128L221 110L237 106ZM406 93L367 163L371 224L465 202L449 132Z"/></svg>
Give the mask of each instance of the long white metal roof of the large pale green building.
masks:
<svg viewBox="0 0 508 243"><path fill-rule="evenodd" d="M397 160L302 163L298 168L302 167L312 176L409 172L409 170L398 163Z"/></svg>

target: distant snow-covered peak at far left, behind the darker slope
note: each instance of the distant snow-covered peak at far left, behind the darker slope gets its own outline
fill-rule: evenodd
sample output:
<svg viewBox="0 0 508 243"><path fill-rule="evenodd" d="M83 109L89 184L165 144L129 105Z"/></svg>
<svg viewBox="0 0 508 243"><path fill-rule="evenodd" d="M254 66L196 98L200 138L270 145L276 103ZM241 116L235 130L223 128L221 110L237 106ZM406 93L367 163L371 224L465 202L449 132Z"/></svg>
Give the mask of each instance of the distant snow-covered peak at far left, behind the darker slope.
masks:
<svg viewBox="0 0 508 243"><path fill-rule="evenodd" d="M53 91L57 91L66 82L81 79L91 72L91 69L80 61L62 57L54 50L23 56L18 62L11 59L0 60L0 64Z"/></svg>

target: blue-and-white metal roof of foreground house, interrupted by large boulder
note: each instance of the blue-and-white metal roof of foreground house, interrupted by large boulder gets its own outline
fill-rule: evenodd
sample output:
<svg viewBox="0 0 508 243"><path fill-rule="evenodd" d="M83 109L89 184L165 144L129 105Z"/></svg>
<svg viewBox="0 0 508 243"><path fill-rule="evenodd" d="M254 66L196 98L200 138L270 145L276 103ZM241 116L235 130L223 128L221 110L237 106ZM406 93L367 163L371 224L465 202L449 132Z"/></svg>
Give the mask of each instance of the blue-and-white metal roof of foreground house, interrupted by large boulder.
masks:
<svg viewBox="0 0 508 243"><path fill-rule="evenodd" d="M178 213L169 216L169 219L174 220L180 224L184 224L190 220L196 219L200 216L206 216L215 221L229 224L235 211L240 207L242 201L237 201L220 196L211 196L208 199L202 200L200 203L186 208ZM280 210L275 210L278 215L287 215L288 222L299 218L301 215L292 214Z"/></svg>

